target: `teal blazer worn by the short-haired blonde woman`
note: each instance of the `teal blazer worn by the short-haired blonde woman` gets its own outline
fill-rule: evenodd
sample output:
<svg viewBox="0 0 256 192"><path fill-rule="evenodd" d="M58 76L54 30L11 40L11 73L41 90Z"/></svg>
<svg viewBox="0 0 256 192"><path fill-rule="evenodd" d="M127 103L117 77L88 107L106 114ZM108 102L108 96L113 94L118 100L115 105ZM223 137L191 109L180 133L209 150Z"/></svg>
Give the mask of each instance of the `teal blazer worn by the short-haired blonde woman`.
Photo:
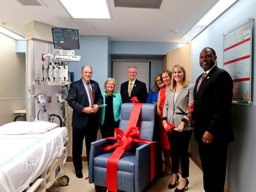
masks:
<svg viewBox="0 0 256 192"><path fill-rule="evenodd" d="M103 104L106 104L105 92L103 92L101 94L103 97ZM121 94L118 92L113 92L113 94L116 96L116 97L113 97L113 112L114 112L115 122L117 122L118 120L120 120L122 97L121 97ZM104 107L99 109L99 116L100 116L100 125L103 125L104 118L105 118L105 108Z"/></svg>

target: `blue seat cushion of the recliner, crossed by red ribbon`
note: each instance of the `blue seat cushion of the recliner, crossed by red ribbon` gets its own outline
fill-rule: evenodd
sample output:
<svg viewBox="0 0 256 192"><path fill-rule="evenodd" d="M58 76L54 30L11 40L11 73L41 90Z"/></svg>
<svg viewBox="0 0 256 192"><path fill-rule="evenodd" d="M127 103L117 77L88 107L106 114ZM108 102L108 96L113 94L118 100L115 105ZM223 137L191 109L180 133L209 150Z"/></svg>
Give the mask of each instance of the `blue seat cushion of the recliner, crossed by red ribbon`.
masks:
<svg viewBox="0 0 256 192"><path fill-rule="evenodd" d="M102 154L94 158L94 166L99 166L102 168L107 168L107 162L109 156L111 156L112 152ZM122 154L120 160L118 161L117 170L124 172L134 173L135 168L135 154L131 152L124 152Z"/></svg>

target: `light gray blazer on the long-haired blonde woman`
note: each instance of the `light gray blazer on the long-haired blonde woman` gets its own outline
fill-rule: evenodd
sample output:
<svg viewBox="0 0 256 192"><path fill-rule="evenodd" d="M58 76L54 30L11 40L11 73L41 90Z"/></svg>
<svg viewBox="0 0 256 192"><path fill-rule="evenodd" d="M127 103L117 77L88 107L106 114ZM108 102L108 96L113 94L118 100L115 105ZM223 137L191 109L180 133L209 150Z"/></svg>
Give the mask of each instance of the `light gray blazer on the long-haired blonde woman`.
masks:
<svg viewBox="0 0 256 192"><path fill-rule="evenodd" d="M168 91L166 93L166 99L164 102L163 117L166 117L168 122L170 122L170 124L174 123L175 125L174 130L177 130L177 128L179 127L181 119L183 117L186 118L186 116L184 115L175 114L175 113L181 112L177 108L177 106L183 111L188 112L188 107L194 102L193 90L194 90L194 85L189 83L188 86L180 89L180 92L178 93L176 100L174 100L175 88L172 92L170 88L168 88ZM193 129L193 127L189 125L186 125L184 127L184 131L188 131L191 129Z"/></svg>

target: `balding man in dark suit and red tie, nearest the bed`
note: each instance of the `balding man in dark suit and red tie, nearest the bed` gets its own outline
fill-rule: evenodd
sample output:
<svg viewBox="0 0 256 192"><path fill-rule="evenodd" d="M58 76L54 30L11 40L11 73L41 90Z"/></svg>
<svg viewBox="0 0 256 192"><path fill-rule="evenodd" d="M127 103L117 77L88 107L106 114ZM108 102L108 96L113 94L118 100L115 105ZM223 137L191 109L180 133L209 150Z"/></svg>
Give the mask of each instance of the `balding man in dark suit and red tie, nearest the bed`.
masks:
<svg viewBox="0 0 256 192"><path fill-rule="evenodd" d="M68 90L68 105L73 109L72 115L72 156L76 177L82 178L82 151L85 137L86 155L89 161L91 143L97 140L98 105L103 98L99 84L92 80L92 67L84 66L82 78L70 84Z"/></svg>

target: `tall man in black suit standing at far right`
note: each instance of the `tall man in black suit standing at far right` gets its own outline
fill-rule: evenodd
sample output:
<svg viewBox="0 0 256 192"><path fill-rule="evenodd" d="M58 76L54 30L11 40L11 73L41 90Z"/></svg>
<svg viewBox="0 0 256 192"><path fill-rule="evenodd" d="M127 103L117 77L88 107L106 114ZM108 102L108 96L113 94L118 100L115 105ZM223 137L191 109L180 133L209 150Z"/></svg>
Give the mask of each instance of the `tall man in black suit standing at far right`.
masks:
<svg viewBox="0 0 256 192"><path fill-rule="evenodd" d="M196 79L192 115L206 192L223 192L228 143L234 141L230 111L233 82L228 72L217 67L216 60L212 48L200 53L204 74Z"/></svg>

